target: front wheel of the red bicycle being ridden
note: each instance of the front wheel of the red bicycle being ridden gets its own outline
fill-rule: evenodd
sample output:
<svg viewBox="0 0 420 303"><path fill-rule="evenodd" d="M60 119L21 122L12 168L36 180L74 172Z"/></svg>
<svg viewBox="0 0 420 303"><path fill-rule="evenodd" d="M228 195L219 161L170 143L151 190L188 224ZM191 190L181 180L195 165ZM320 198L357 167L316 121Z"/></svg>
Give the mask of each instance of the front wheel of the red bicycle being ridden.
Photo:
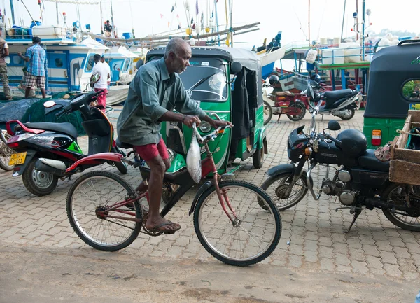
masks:
<svg viewBox="0 0 420 303"><path fill-rule="evenodd" d="M281 218L272 199L261 188L243 181L223 181L219 187L234 220L221 207L216 188L204 192L194 213L195 232L202 246L229 265L247 266L264 260L281 236Z"/></svg>

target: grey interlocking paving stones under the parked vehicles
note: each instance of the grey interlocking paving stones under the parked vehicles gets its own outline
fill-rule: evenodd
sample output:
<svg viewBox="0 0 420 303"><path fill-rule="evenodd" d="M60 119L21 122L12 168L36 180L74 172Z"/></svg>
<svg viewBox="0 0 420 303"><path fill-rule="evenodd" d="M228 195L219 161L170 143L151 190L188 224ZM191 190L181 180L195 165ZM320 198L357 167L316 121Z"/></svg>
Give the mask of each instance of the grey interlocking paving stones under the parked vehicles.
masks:
<svg viewBox="0 0 420 303"><path fill-rule="evenodd" d="M116 122L119 109L110 114L113 122ZM318 122L318 127L325 128L328 118L326 116L324 122ZM259 185L265 180L267 169L287 163L286 138L292 129L302 123L309 125L309 114L300 122L290 122L286 117L282 117L278 123L270 122L267 125L269 155L264 166L262 169L253 169L252 160L247 160L235 178ZM349 122L340 123L342 129L361 129L363 112L356 113L356 117ZM79 142L83 150L87 150L87 138L82 137ZM119 174L115 167L108 165L94 169ZM130 168L123 178L135 186L139 183L140 174L137 169ZM27 192L21 178L13 178L10 172L1 171L1 245L93 251L78 239L66 217L66 194L73 180L59 181L55 192L48 197L35 197ZM316 178L315 182L318 182ZM191 189L168 215L171 220L181 223L183 228L180 232L162 237L141 235L131 246L117 254L218 262L202 248L195 236L193 218L188 216L196 190ZM351 232L344 234L353 216L348 211L335 212L337 206L341 204L334 199L327 197L315 202L307 195L297 206L281 213L281 241L264 263L304 272L353 272L401 279L419 278L420 233L394 227L381 211L374 210L363 212Z"/></svg>

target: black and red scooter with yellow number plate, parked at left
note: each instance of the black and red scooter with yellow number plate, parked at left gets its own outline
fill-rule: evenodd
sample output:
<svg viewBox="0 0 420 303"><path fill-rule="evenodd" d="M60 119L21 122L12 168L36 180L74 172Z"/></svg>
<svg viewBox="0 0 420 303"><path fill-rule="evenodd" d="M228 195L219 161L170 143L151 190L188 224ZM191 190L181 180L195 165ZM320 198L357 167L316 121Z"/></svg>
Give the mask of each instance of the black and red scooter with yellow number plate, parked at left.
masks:
<svg viewBox="0 0 420 303"><path fill-rule="evenodd" d="M83 129L89 136L88 155L113 152L125 156L113 140L113 126L109 119L99 107L90 106L101 93L102 90L76 95L56 114L57 119L79 111L83 118ZM44 103L47 108L55 105L54 101ZM70 178L104 162L116 165L122 174L127 173L127 164L124 162L99 160L86 161L76 169L66 171L72 164L87 157L78 146L78 132L71 123L22 123L10 120L6 122L6 129L12 136L7 144L15 150L9 162L9 165L15 165L13 176L22 175L25 188L36 196L49 195L56 188L58 178Z"/></svg>

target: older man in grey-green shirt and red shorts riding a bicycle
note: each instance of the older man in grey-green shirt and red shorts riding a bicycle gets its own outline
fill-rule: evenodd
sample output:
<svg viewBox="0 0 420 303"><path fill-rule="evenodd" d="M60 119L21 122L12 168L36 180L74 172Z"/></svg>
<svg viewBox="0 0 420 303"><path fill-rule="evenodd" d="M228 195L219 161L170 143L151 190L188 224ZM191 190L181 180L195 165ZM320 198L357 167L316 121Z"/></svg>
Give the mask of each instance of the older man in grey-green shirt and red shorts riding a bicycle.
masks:
<svg viewBox="0 0 420 303"><path fill-rule="evenodd" d="M173 234L181 225L162 218L159 213L162 183L169 169L169 154L160 134L162 121L182 122L188 127L202 120L217 128L230 122L211 119L190 98L179 73L190 65L191 48L181 38L172 38L165 57L140 67L130 84L127 100L118 118L118 139L134 146L134 150L151 169L148 185L142 182L137 190L149 193L146 228L153 232ZM179 113L173 113L176 109Z"/></svg>

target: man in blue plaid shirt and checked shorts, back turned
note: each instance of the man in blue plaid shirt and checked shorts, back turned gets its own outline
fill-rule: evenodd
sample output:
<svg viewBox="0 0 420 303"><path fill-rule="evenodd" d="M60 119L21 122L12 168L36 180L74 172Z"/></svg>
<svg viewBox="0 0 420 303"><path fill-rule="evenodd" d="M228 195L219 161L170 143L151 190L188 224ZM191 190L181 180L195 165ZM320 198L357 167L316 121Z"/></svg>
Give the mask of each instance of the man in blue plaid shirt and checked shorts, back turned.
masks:
<svg viewBox="0 0 420 303"><path fill-rule="evenodd" d="M27 49L26 55L18 52L19 57L29 62L26 81L25 98L29 97L31 87L35 85L41 90L42 97L45 99L45 75L47 71L47 53L41 48L41 38L32 38L33 46Z"/></svg>

